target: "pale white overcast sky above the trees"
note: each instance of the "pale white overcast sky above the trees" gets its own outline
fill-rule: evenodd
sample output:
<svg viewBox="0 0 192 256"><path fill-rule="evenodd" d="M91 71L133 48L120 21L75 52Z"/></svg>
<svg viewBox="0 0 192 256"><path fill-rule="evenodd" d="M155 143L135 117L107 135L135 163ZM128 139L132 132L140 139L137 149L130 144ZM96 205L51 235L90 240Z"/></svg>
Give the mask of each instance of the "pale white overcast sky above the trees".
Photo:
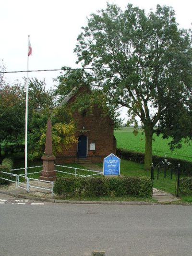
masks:
<svg viewBox="0 0 192 256"><path fill-rule="evenodd" d="M0 60L6 71L27 68L28 35L32 46L29 69L60 69L77 67L73 49L86 17L102 8L106 0L0 0ZM128 3L149 12L156 4L172 6L181 28L192 27L191 0L108 0L125 9ZM30 73L38 79L45 78L53 87L52 78L59 72ZM6 74L7 82L22 81L25 73Z"/></svg>

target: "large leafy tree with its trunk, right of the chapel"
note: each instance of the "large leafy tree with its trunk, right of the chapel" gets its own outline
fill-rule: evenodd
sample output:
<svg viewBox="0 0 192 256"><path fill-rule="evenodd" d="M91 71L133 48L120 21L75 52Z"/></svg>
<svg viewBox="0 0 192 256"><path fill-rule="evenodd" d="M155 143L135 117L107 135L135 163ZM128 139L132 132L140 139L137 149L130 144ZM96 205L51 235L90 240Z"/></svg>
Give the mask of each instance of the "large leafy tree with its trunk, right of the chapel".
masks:
<svg viewBox="0 0 192 256"><path fill-rule="evenodd" d="M114 4L91 14L82 28L75 52L83 67L92 67L92 84L99 85L108 100L127 107L130 120L138 117L145 132L145 169L152 163L154 127L165 136L190 136L191 131L171 132L173 108L185 112L189 121L192 92L192 37L180 29L171 7L156 6L156 12L129 4L125 11ZM176 112L176 111L175 111ZM182 111L180 111L182 115ZM164 127L163 123L166 123ZM185 124L180 118L180 127ZM127 142L129 143L129 142Z"/></svg>

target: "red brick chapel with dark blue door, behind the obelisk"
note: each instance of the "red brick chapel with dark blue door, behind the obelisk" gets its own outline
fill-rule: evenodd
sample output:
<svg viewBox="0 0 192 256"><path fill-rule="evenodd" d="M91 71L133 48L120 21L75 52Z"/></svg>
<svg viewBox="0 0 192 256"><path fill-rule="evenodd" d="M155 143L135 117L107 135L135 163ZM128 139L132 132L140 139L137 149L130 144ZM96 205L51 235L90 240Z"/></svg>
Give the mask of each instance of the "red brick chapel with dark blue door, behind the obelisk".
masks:
<svg viewBox="0 0 192 256"><path fill-rule="evenodd" d="M82 97L84 87L79 90L72 90L67 95L62 104L71 106L77 97ZM91 93L91 90L89 90ZM82 160L92 162L103 162L109 154L116 154L116 138L113 135L114 122L109 116L102 115L102 109L94 106L91 113L84 114L78 111L72 114L76 123L75 136L77 144L73 144L70 149L63 149L62 154L57 155L57 163L74 163Z"/></svg>

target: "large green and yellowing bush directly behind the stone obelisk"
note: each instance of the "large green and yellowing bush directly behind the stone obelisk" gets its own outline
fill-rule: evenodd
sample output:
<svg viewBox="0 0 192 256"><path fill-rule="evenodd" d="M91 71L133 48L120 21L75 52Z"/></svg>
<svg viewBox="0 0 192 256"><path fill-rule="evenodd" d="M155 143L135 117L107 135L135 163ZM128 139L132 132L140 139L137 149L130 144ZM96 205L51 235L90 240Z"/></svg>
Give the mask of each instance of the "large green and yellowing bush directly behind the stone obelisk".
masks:
<svg viewBox="0 0 192 256"><path fill-rule="evenodd" d="M29 137L29 158L31 160L40 158L43 155L46 142L46 129L48 117L52 121L52 143L53 153L61 152L63 147L69 148L76 143L74 137L75 125L72 121L72 115L65 106L57 107L50 111L34 111L31 123Z"/></svg>

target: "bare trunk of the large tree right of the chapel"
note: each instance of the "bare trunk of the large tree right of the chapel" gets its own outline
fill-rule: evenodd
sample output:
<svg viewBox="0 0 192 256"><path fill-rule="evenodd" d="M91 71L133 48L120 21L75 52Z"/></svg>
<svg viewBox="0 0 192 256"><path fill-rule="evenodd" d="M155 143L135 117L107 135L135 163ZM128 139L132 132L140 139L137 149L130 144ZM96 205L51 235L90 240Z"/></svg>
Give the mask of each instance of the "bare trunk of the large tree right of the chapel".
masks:
<svg viewBox="0 0 192 256"><path fill-rule="evenodd" d="M144 169L150 170L152 164L152 138L153 138L153 129L145 129L145 152L144 152Z"/></svg>

